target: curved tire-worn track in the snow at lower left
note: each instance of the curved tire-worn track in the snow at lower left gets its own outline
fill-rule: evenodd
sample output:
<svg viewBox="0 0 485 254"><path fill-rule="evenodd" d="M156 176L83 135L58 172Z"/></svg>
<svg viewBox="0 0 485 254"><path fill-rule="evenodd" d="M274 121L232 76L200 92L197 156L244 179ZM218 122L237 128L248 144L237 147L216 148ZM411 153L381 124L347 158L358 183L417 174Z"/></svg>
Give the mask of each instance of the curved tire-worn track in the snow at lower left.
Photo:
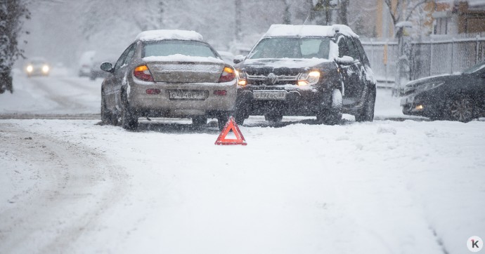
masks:
<svg viewBox="0 0 485 254"><path fill-rule="evenodd" d="M0 131L8 133L2 137L4 149L42 165L30 191L0 212L0 253L75 252L69 250L72 243L87 230L96 230L98 218L122 199L127 175L81 145L14 125L0 125Z"/></svg>

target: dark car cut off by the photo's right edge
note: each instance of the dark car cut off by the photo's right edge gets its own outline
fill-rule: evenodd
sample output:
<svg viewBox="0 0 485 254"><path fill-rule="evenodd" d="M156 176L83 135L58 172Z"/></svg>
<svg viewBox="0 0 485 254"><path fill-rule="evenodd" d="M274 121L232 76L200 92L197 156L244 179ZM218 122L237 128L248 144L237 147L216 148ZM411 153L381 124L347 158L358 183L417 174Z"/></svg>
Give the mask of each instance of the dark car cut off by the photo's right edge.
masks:
<svg viewBox="0 0 485 254"><path fill-rule="evenodd" d="M485 62L460 74L411 81L403 96L404 114L463 122L485 116Z"/></svg>

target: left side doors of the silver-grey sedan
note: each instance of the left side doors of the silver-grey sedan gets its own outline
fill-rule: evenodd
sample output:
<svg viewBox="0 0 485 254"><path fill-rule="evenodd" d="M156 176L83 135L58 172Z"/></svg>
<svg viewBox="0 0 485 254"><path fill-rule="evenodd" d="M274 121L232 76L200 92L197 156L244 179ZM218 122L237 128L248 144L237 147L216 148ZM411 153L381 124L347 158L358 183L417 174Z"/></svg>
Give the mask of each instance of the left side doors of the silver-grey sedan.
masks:
<svg viewBox="0 0 485 254"><path fill-rule="evenodd" d="M120 109L119 106L121 100L119 91L121 90L123 77L127 70L127 65L125 65L124 62L131 50L134 50L134 44L131 44L125 51L123 51L122 55L116 61L115 67L113 67L112 75L107 79L105 94L109 105L108 107L112 110Z"/></svg>

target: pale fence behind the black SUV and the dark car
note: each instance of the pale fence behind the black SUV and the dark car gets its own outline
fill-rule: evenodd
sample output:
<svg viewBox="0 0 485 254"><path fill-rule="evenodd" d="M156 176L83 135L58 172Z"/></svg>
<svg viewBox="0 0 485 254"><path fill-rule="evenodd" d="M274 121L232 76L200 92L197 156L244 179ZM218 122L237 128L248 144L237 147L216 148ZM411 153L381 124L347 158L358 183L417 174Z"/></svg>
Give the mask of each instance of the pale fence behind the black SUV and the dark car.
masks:
<svg viewBox="0 0 485 254"><path fill-rule="evenodd" d="M370 60L377 81L394 83L398 45L394 41L363 40L362 45ZM411 44L410 79L451 74L475 65L485 59L485 36L474 38L429 39Z"/></svg>

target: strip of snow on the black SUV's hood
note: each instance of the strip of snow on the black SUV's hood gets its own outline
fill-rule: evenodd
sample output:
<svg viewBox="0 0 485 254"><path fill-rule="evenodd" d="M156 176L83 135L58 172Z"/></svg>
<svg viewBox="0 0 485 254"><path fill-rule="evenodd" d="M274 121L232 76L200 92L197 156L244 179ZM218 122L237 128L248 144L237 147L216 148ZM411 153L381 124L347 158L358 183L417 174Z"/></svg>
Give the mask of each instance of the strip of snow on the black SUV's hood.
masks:
<svg viewBox="0 0 485 254"><path fill-rule="evenodd" d="M306 68L306 67L313 67L316 65L320 65L324 62L332 62L328 59L323 58L278 58L278 59L267 59L267 58L259 58L259 59L247 59L244 61L244 65L252 65L253 67L257 65L261 65L264 67L273 67L273 68Z"/></svg>

